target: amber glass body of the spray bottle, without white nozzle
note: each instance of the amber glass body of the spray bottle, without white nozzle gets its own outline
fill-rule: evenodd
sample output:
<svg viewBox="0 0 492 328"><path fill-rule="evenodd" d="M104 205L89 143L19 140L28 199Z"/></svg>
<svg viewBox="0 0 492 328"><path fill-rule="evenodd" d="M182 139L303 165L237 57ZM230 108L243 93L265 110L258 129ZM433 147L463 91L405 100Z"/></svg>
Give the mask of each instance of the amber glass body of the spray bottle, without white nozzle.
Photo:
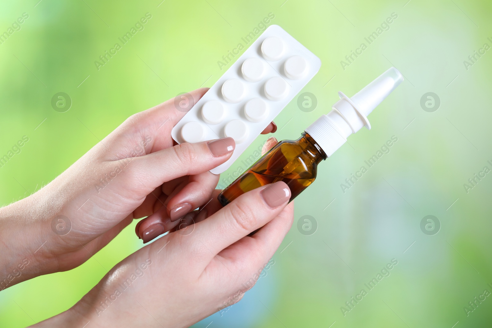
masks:
<svg viewBox="0 0 492 328"><path fill-rule="evenodd" d="M247 191L260 186L284 181L296 198L316 179L316 168L326 159L324 151L304 132L298 140L283 140L232 182L218 195L222 206L226 206Z"/></svg>

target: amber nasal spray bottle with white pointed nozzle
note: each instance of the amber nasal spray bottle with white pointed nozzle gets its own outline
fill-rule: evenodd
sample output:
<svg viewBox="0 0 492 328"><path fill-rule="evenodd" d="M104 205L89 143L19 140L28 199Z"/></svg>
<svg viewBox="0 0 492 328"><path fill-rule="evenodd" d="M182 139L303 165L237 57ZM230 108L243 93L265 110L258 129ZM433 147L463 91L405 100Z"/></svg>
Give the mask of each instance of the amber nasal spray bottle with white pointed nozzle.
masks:
<svg viewBox="0 0 492 328"><path fill-rule="evenodd" d="M316 179L317 165L330 157L363 126L370 130L367 116L403 81L391 67L352 98L338 92L340 100L327 115L309 125L297 140L283 140L263 155L245 173L218 195L225 206L249 190L284 181L292 201Z"/></svg>

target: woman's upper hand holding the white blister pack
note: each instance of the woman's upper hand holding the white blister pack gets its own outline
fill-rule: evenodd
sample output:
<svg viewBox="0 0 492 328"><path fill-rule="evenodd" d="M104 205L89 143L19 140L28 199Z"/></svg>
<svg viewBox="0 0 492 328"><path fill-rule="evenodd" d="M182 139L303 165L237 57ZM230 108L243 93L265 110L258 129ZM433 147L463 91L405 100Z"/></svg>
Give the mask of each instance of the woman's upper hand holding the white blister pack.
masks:
<svg viewBox="0 0 492 328"><path fill-rule="evenodd" d="M154 214L162 223L141 229L147 242L206 204L218 181L209 170L229 159L234 140L176 145L171 129L207 90L131 116L41 190L0 209L2 253L9 254L0 273L17 276L23 266L1 289L79 266L135 218ZM275 129L272 122L263 132Z"/></svg>

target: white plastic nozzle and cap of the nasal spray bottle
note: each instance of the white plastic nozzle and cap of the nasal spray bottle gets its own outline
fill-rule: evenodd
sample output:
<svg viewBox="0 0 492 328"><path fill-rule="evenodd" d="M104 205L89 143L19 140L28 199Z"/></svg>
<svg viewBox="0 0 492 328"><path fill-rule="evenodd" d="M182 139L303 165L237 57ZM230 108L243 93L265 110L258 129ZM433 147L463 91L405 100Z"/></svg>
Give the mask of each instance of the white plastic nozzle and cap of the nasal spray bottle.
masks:
<svg viewBox="0 0 492 328"><path fill-rule="evenodd" d="M321 116L305 130L330 157L347 141L347 137L363 126L370 129L367 116L403 81L403 76L391 67L352 98L338 92L340 100L327 115Z"/></svg>

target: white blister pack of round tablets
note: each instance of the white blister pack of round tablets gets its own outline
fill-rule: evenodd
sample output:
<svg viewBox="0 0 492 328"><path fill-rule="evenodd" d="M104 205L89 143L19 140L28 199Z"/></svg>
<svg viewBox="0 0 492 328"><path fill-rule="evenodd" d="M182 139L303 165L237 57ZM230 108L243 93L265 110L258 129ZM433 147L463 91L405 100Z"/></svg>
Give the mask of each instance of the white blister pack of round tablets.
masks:
<svg viewBox="0 0 492 328"><path fill-rule="evenodd" d="M318 72L321 60L278 25L268 27L174 126L181 144L223 137L236 142L220 174Z"/></svg>

